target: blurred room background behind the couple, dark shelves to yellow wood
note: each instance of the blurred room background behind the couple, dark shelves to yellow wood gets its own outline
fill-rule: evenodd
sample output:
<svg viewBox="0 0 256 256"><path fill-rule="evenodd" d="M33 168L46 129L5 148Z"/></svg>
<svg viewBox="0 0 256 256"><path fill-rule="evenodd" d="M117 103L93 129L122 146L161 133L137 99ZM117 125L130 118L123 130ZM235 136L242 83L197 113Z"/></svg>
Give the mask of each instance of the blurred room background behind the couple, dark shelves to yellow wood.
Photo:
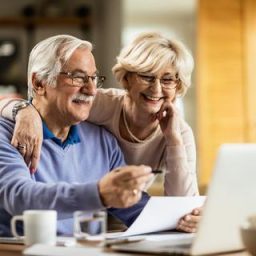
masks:
<svg viewBox="0 0 256 256"><path fill-rule="evenodd" d="M256 141L255 0L0 0L0 98L26 97L28 54L56 34L93 42L105 87L118 87L111 68L121 47L152 30L183 41L195 59L181 108L195 133L204 193L218 147Z"/></svg>

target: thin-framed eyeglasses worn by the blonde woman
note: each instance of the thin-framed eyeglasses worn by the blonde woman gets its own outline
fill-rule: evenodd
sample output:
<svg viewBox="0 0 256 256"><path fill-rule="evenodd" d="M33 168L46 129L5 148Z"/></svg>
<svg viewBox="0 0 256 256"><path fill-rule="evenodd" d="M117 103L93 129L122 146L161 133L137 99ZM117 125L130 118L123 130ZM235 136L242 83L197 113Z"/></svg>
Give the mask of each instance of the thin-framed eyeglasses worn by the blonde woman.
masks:
<svg viewBox="0 0 256 256"><path fill-rule="evenodd" d="M174 89L177 87L180 81L176 76L166 75L161 78L157 78L154 75L148 75L143 73L136 73L139 82L148 86L152 86L156 83L156 80L160 80L160 84L165 89Z"/></svg>

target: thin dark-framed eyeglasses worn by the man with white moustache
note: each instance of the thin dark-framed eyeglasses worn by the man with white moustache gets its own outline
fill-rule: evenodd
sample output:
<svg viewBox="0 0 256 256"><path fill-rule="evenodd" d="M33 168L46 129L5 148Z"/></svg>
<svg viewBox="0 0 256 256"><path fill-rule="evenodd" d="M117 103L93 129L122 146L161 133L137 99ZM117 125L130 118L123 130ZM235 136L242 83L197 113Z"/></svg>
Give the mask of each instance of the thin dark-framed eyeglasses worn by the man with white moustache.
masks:
<svg viewBox="0 0 256 256"><path fill-rule="evenodd" d="M83 87L87 86L89 83L89 79L92 80L92 82L96 85L96 87L101 87L106 80L105 76L88 76L81 72L65 72L61 71L59 72L60 75L66 75L72 80L72 86L75 87Z"/></svg>

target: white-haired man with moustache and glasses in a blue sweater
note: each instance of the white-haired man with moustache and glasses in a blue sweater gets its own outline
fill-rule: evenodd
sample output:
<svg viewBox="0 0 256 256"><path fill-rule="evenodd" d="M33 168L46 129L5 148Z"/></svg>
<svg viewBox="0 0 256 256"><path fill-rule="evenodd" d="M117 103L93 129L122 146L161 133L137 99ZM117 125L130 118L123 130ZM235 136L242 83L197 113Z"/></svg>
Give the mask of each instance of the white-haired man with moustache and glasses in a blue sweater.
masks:
<svg viewBox="0 0 256 256"><path fill-rule="evenodd" d="M41 160L30 175L10 144L13 122L0 119L0 235L11 235L11 216L26 209L57 210L63 235L72 234L76 210L107 207L129 226L148 200L141 190L152 178L151 169L121 167L115 138L102 127L80 123L104 81L91 50L87 41L60 35L41 41L30 54L28 91L44 131Z"/></svg>

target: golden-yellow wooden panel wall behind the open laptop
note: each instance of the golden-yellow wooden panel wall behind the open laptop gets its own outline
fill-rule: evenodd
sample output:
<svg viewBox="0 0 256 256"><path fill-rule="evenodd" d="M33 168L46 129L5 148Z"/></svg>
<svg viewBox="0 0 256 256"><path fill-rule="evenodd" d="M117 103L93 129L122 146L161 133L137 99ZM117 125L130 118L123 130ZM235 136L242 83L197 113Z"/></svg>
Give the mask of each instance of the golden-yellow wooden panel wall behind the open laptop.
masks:
<svg viewBox="0 0 256 256"><path fill-rule="evenodd" d="M200 183L207 186L222 143L256 141L256 2L198 6L198 155Z"/></svg>

